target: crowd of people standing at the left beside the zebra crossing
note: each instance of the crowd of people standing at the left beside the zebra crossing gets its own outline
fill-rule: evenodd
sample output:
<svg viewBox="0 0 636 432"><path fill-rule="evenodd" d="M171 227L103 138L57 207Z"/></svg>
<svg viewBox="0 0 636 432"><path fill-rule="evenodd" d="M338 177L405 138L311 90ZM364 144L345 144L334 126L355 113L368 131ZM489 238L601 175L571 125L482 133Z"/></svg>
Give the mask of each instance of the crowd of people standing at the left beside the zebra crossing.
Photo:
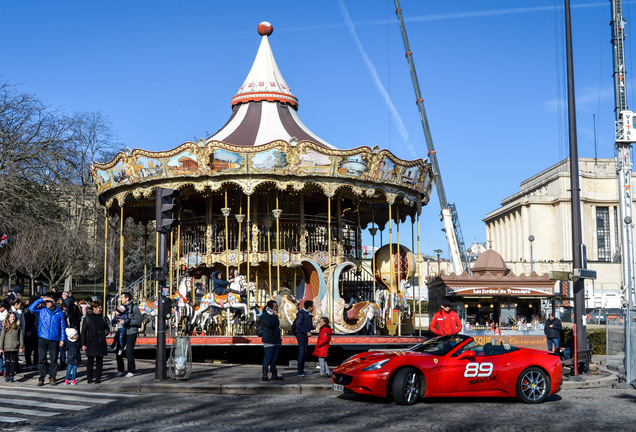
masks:
<svg viewBox="0 0 636 432"><path fill-rule="evenodd" d="M70 291L53 288L47 295L25 299L23 292L16 286L0 301L0 374L5 382L15 382L16 374L37 369L38 386L47 377L56 385L61 367L66 369L64 384L76 385L78 367L85 365L86 382L100 383L111 330L115 332L111 350L116 354L116 376L136 374L134 348L142 316L131 294L121 294L118 313L109 321L97 298L78 300ZM19 362L20 354L24 364Z"/></svg>

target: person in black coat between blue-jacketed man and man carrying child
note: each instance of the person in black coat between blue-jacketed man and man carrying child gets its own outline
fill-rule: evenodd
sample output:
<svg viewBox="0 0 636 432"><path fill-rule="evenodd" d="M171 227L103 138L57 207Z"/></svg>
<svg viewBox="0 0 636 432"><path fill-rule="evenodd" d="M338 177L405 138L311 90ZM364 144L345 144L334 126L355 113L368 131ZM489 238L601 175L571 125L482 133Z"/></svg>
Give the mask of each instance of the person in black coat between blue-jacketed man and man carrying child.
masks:
<svg viewBox="0 0 636 432"><path fill-rule="evenodd" d="M86 351L86 376L88 383L99 384L102 380L102 367L106 350L106 336L110 326L102 315L102 303L93 302L82 324L82 349ZM93 368L95 373L93 373Z"/></svg>

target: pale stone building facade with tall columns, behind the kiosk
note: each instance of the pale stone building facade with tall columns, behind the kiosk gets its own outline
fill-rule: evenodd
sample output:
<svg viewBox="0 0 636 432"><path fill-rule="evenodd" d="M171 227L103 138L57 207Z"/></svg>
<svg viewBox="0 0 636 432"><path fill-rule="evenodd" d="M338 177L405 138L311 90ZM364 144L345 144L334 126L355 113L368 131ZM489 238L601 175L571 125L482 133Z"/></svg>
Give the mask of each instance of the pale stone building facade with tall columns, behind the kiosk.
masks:
<svg viewBox="0 0 636 432"><path fill-rule="evenodd" d="M620 307L616 163L614 159L581 158L579 171L583 243L587 246L588 268L597 271L595 281L586 281L586 306ZM571 271L569 160L523 181L519 192L505 198L484 222L490 246L515 273L530 272L531 267L540 274Z"/></svg>

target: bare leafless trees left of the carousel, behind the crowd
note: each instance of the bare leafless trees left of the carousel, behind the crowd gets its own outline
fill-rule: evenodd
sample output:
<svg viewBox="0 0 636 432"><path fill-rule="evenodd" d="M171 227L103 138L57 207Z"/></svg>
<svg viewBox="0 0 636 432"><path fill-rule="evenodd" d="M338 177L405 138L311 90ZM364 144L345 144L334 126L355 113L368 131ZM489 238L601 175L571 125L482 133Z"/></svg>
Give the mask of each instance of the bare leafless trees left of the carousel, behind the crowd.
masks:
<svg viewBox="0 0 636 432"><path fill-rule="evenodd" d="M0 271L37 275L30 254L45 263L44 275L58 285L70 275L103 268L103 252L90 247L97 238L103 209L90 181L93 160L114 154L107 119L97 113L66 117L34 95L0 82L0 233L27 239L40 227L31 250L13 248L20 265L0 254ZM24 240L26 242L26 240Z"/></svg>

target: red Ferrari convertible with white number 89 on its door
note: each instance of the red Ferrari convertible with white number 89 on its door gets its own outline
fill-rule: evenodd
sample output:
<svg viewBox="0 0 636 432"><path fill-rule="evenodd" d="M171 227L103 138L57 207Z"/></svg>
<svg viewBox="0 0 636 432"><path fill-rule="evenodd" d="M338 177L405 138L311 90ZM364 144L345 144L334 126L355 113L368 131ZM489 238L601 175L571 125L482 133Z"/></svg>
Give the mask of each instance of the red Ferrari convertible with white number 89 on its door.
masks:
<svg viewBox="0 0 636 432"><path fill-rule="evenodd" d="M333 371L333 389L412 405L420 396L517 397L543 402L561 389L563 365L548 351L440 336L406 351L357 354Z"/></svg>

